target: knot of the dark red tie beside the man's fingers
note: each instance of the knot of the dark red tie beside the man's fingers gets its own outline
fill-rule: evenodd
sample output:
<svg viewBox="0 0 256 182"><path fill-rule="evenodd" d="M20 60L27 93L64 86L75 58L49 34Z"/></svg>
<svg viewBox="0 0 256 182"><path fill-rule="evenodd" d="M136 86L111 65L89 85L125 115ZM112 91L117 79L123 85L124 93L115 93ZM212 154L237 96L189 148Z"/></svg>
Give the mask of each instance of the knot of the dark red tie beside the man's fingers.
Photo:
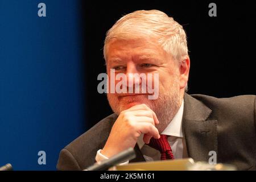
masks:
<svg viewBox="0 0 256 182"><path fill-rule="evenodd" d="M160 135L159 139L151 138L150 143L148 143L148 146L155 148L156 150L159 150L161 153L171 150L171 146L168 143L167 135Z"/></svg>

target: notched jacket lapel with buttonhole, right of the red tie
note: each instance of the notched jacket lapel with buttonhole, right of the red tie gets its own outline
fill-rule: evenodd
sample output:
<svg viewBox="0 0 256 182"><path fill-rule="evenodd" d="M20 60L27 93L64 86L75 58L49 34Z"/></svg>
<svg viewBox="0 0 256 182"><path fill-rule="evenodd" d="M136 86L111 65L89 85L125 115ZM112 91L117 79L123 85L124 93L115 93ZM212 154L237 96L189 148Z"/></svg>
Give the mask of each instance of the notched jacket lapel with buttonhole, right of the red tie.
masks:
<svg viewBox="0 0 256 182"><path fill-rule="evenodd" d="M183 132L190 158L208 161L210 151L217 154L217 120L208 120L210 110L199 100L184 95Z"/></svg>

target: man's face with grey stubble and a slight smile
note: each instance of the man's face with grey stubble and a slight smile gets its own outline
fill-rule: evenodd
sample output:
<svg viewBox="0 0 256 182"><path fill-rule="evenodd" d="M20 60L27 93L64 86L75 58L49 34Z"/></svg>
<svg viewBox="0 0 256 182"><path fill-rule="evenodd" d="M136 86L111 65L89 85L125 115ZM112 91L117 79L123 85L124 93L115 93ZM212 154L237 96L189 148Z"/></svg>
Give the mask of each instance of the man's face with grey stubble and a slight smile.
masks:
<svg viewBox="0 0 256 182"><path fill-rule="evenodd" d="M158 80L152 78L153 86L156 81L159 84L159 96L156 100L149 100L148 93L108 93L109 104L115 113L119 114L122 110L134 105L146 104L155 111L160 121L159 127L161 123L164 125L171 121L181 104L179 63L173 60L172 56L156 43L156 40L149 38L112 39L107 47L106 62L108 76L110 76L110 69L115 69L115 74L124 73L127 80L129 80L129 73L159 74ZM111 84L110 78L109 84ZM116 84L117 81L115 81Z"/></svg>

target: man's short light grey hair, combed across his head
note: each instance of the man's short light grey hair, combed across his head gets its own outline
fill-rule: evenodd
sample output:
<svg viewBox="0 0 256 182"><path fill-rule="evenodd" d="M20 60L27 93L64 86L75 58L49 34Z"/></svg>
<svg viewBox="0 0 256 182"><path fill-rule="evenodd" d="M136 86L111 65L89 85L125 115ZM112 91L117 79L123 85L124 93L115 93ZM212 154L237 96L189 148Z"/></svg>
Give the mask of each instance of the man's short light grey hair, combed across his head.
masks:
<svg viewBox="0 0 256 182"><path fill-rule="evenodd" d="M139 10L119 19L107 32L104 43L106 60L107 45L113 38L136 39L142 36L158 38L163 49L175 60L188 55L187 36L183 27L174 18L159 10Z"/></svg>

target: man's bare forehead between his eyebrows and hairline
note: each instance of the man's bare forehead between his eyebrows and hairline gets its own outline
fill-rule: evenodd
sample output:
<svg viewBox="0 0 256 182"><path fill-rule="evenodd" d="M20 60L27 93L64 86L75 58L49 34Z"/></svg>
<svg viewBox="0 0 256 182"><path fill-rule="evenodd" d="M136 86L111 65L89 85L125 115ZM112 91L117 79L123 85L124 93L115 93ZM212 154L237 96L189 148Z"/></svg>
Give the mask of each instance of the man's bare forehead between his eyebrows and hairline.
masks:
<svg viewBox="0 0 256 182"><path fill-rule="evenodd" d="M108 43L106 59L118 59L118 57L133 56L140 59L166 56L166 51L155 39L141 38L132 40L112 39Z"/></svg>

